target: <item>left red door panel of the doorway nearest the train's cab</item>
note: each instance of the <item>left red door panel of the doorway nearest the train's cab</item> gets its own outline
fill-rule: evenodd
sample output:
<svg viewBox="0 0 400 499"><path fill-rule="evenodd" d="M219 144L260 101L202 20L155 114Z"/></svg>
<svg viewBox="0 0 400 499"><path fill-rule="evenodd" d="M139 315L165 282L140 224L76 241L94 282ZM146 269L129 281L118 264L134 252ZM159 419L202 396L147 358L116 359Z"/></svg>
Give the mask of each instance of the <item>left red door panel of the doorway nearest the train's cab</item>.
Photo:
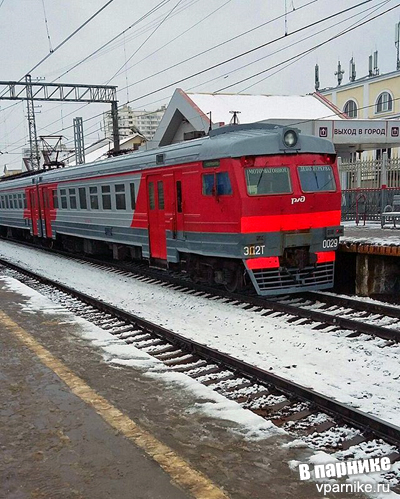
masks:
<svg viewBox="0 0 400 499"><path fill-rule="evenodd" d="M147 177L150 256L162 260L167 259L164 184L162 175Z"/></svg>

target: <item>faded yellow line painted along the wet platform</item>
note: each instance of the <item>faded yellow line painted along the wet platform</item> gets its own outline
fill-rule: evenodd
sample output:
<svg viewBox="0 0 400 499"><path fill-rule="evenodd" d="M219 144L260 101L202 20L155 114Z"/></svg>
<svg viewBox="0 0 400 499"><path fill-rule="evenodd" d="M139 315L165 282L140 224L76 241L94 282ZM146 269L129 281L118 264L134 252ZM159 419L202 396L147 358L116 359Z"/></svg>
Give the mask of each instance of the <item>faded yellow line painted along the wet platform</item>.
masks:
<svg viewBox="0 0 400 499"><path fill-rule="evenodd" d="M8 315L0 311L0 322L40 361L51 369L86 404L93 407L104 421L122 433L135 445L152 457L171 478L197 499L228 499L217 485L199 471L193 469L172 449L142 429L108 400L96 393L85 381L74 374L62 361L54 357L31 334L22 329Z"/></svg>

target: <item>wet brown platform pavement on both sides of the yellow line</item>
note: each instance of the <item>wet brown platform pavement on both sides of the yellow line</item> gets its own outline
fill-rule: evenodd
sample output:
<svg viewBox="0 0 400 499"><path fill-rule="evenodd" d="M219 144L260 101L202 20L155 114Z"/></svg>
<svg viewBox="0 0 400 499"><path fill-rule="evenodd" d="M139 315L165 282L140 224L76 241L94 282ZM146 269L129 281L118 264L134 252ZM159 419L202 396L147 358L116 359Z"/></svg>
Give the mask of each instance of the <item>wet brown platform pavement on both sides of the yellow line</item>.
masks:
<svg viewBox="0 0 400 499"><path fill-rule="evenodd" d="M291 441L282 434L250 440L237 431L238 423L194 411L209 402L207 397L138 368L107 363L101 349L83 338L71 314L33 313L27 301L10 291L0 275L0 310L228 497L322 497L315 484L300 482L288 465L306 461L310 449L282 447ZM0 401L1 498L192 497L71 393L1 323Z"/></svg>

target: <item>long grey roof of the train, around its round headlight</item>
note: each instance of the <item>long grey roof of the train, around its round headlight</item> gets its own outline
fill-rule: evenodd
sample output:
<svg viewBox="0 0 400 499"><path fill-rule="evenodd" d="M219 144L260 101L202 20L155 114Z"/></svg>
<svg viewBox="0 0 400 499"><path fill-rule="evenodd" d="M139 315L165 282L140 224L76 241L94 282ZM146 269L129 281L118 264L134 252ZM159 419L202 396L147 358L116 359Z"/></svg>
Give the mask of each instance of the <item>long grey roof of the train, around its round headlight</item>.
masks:
<svg viewBox="0 0 400 499"><path fill-rule="evenodd" d="M284 142L284 136L290 130L297 135L297 142L292 147L287 146ZM34 177L20 177L14 181L18 185L44 180L58 182L97 175L141 171L148 168L168 167L195 161L300 153L336 154L334 146L329 140L301 134L300 130L292 127L251 123L224 126L210 131L209 136L200 139L149 151L137 151L95 163L41 172Z"/></svg>

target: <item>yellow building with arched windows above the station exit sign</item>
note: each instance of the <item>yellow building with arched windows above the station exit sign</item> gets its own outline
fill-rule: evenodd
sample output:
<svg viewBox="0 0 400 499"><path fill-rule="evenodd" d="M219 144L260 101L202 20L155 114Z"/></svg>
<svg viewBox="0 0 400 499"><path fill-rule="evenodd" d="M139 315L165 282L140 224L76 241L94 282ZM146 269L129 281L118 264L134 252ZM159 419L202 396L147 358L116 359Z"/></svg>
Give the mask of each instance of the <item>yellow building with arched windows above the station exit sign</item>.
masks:
<svg viewBox="0 0 400 499"><path fill-rule="evenodd" d="M382 75L372 74L344 85L325 88L319 93L350 119L400 118L400 70ZM374 159L380 159L384 151L387 151L388 158L400 156L399 148L376 149Z"/></svg>

